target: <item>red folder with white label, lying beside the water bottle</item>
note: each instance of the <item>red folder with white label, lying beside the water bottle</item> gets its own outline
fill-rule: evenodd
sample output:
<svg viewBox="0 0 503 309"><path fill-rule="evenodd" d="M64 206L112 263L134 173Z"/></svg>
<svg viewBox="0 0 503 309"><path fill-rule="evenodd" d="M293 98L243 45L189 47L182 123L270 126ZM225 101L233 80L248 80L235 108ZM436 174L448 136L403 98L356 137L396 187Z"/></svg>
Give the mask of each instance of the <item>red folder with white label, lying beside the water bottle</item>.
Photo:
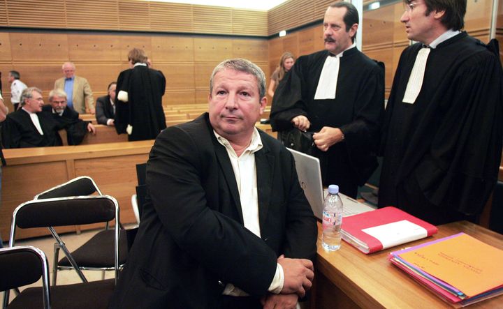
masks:
<svg viewBox="0 0 503 309"><path fill-rule="evenodd" d="M423 239L437 232L435 225L393 206L342 219L342 239L367 254Z"/></svg>

